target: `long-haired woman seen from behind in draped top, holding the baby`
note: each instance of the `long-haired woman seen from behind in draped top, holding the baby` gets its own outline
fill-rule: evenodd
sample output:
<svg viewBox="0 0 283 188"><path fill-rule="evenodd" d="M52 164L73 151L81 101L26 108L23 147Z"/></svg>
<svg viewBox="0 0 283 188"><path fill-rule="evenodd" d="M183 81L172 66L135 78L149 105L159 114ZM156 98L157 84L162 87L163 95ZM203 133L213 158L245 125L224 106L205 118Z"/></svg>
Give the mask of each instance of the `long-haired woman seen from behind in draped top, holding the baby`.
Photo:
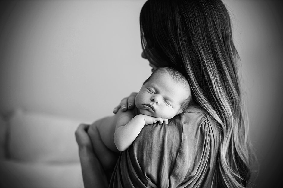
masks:
<svg viewBox="0 0 283 188"><path fill-rule="evenodd" d="M225 5L148 0L140 27L142 57L153 70L172 67L185 75L193 104L168 126L144 127L120 153L109 187L248 187L252 154ZM122 100L123 111L134 98ZM107 187L87 129L76 131L85 187Z"/></svg>

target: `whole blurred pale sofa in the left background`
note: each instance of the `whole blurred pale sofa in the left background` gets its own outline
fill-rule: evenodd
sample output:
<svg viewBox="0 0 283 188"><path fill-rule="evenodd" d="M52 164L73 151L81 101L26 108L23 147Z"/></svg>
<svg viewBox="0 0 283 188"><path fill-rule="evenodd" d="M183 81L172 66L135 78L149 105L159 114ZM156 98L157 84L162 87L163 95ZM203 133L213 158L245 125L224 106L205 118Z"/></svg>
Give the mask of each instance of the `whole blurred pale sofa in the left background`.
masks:
<svg viewBox="0 0 283 188"><path fill-rule="evenodd" d="M74 134L81 122L20 108L1 118L0 187L83 187Z"/></svg>

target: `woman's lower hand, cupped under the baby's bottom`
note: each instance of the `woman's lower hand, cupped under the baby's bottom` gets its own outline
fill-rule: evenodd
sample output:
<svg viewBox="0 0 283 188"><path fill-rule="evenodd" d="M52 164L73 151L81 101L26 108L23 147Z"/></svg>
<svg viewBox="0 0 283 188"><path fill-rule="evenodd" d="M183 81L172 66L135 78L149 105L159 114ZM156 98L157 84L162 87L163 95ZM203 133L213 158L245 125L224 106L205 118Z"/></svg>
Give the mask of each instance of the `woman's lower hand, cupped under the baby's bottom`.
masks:
<svg viewBox="0 0 283 188"><path fill-rule="evenodd" d="M87 133L89 126L88 124L81 123L75 132L79 149L86 148L92 150L92 141Z"/></svg>

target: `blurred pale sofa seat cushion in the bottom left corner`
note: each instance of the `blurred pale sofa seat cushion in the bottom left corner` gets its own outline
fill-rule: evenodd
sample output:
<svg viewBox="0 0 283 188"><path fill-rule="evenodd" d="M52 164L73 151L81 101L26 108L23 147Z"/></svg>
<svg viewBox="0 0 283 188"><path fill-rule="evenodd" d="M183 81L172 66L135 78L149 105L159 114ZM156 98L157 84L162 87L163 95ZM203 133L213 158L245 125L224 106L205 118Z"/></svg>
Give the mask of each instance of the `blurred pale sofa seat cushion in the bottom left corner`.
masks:
<svg viewBox="0 0 283 188"><path fill-rule="evenodd" d="M80 163L0 161L1 188L83 188Z"/></svg>

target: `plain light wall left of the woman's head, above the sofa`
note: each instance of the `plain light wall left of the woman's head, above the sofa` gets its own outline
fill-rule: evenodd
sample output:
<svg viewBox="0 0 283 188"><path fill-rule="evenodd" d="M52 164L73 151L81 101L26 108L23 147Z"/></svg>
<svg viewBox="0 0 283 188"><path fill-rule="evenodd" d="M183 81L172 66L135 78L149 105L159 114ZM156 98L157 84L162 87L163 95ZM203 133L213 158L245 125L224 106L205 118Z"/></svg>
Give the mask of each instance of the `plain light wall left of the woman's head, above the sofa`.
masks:
<svg viewBox="0 0 283 188"><path fill-rule="evenodd" d="M97 119L150 75L144 1L18 1L0 38L1 111Z"/></svg>

